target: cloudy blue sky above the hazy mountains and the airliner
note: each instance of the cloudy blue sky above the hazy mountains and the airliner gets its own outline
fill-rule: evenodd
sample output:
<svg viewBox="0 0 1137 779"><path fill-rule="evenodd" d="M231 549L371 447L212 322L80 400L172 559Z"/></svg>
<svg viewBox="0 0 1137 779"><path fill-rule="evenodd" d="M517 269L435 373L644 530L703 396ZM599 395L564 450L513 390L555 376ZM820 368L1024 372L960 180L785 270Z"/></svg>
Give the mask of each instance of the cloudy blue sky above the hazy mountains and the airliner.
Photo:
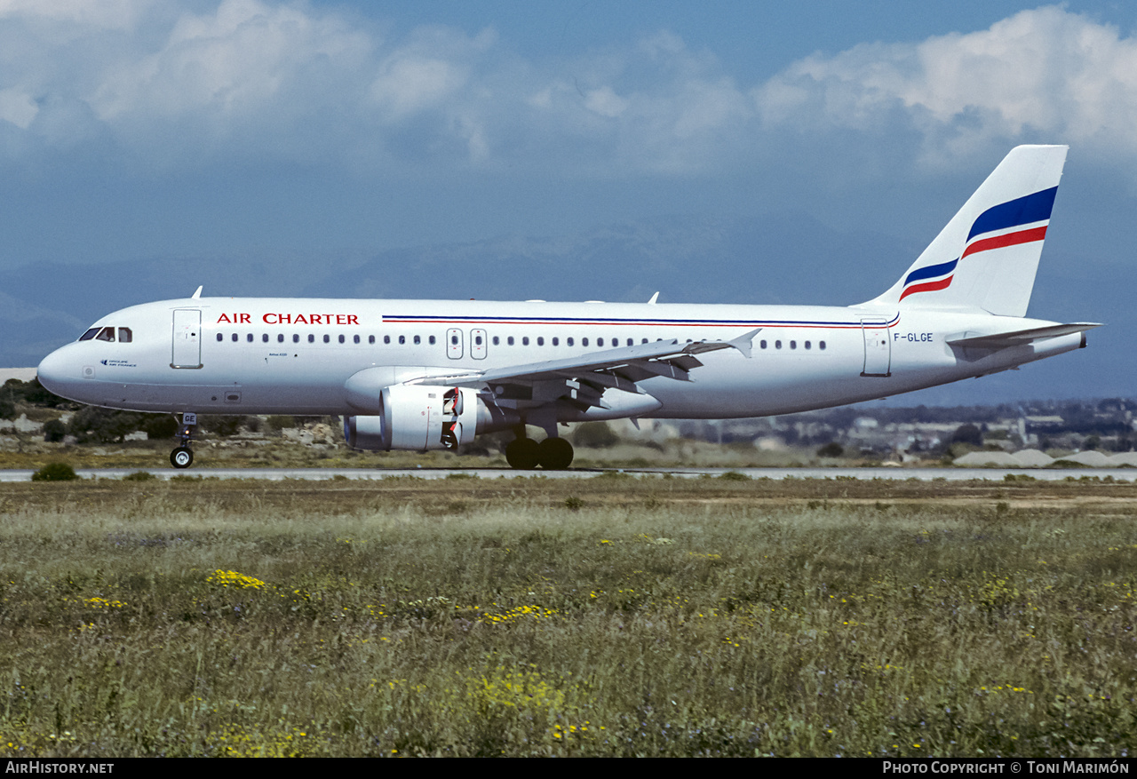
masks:
<svg viewBox="0 0 1137 779"><path fill-rule="evenodd" d="M1135 26L1106 1L0 0L0 270L772 210L919 250L1043 142L1071 147L1044 264L1132 283Z"/></svg>

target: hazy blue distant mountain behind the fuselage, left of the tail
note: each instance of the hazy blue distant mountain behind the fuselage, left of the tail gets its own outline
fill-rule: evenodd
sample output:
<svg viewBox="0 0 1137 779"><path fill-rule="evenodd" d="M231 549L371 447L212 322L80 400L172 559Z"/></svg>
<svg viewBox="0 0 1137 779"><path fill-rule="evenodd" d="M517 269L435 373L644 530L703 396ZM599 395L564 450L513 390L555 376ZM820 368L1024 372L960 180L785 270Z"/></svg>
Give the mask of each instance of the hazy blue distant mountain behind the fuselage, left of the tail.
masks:
<svg viewBox="0 0 1137 779"><path fill-rule="evenodd" d="M888 255L896 257L895 270L849 279L850 256ZM664 303L840 305L873 297L910 262L881 237L839 233L800 215L763 221L672 217L575 237L504 237L388 251L304 291L607 301L647 300L661 291Z"/></svg>

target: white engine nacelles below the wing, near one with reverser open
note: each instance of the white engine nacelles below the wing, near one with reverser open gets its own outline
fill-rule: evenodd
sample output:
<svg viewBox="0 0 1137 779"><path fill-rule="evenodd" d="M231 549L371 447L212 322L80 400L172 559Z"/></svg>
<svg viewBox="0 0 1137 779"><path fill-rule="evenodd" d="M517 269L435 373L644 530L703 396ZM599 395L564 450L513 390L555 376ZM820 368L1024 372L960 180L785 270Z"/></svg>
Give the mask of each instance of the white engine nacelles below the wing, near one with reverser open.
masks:
<svg viewBox="0 0 1137 779"><path fill-rule="evenodd" d="M478 391L463 387L395 384L380 393L379 416L349 416L343 437L354 449L457 449L474 438Z"/></svg>

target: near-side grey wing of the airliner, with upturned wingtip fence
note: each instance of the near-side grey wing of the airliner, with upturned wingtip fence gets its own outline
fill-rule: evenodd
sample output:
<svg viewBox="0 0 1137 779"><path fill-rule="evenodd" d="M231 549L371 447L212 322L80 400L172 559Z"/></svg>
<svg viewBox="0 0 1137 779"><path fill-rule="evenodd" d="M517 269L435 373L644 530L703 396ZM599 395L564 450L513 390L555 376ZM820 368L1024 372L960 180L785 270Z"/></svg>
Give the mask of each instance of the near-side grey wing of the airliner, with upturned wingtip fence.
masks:
<svg viewBox="0 0 1137 779"><path fill-rule="evenodd" d="M761 330L761 328L758 329ZM487 389L500 400L530 401L539 405L558 397L566 390L580 406L607 407L600 396L605 389L642 393L637 382L656 376L691 381L690 372L703 365L696 355L721 349L738 349L750 356L750 340L758 332L752 330L729 341L680 341L671 339L591 351L565 359L490 368L478 373L453 376L424 376L408 383L446 383L455 387Z"/></svg>

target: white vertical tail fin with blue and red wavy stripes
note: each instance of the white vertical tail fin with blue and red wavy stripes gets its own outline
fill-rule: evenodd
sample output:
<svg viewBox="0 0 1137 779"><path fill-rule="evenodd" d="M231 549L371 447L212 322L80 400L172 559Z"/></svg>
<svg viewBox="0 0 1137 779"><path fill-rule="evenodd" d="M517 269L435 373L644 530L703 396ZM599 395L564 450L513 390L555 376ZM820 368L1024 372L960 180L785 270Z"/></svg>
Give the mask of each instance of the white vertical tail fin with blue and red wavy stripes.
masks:
<svg viewBox="0 0 1137 779"><path fill-rule="evenodd" d="M1024 316L1067 150L1012 149L901 280L869 303Z"/></svg>

